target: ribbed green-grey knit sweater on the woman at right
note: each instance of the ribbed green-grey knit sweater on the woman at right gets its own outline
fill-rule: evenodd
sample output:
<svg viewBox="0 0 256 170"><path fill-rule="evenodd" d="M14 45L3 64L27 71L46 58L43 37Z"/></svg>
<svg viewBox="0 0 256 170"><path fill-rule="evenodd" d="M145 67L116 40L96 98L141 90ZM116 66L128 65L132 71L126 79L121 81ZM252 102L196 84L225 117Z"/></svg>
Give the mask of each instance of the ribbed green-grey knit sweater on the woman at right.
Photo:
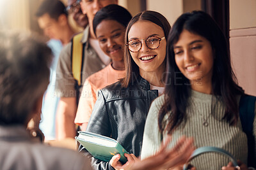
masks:
<svg viewBox="0 0 256 170"><path fill-rule="evenodd" d="M216 146L231 153L236 159L247 163L247 138L244 134L241 122L235 126L230 126L225 120L221 120L225 113L225 106L221 102L216 102L212 106L214 96L203 94L192 90L187 108L188 120L186 124L181 124L172 134L172 143L175 144L180 136L193 136L196 148L202 146ZM239 97L237 97L237 102ZM143 135L143 145L141 149L141 159L154 155L161 146L161 141L166 138L167 133L159 131L157 124L158 113L164 103L164 96L158 97L151 105L148 112L145 131ZM212 109L214 108L214 109ZM255 107L256 108L256 107ZM214 112L214 116L211 114ZM256 110L255 110L256 113ZM167 118L167 117L165 117ZM205 121L206 120L206 121ZM204 126L204 122L208 126ZM256 137L256 116L253 122L253 135ZM255 139L256 141L256 139ZM256 148L255 148L256 153ZM219 153L205 153L191 160L196 169L221 169L230 160Z"/></svg>

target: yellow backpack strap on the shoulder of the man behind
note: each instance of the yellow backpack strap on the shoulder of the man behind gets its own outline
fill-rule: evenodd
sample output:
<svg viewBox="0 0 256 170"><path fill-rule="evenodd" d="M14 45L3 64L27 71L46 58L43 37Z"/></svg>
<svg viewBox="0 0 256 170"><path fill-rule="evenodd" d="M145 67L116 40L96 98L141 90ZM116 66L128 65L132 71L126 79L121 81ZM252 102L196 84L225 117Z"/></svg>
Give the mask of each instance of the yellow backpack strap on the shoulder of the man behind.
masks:
<svg viewBox="0 0 256 170"><path fill-rule="evenodd" d="M71 47L71 69L72 74L77 81L78 87L81 86L81 77L82 77L82 67L83 67L83 46L81 39L83 38L83 32L77 34L72 38L72 47Z"/></svg>

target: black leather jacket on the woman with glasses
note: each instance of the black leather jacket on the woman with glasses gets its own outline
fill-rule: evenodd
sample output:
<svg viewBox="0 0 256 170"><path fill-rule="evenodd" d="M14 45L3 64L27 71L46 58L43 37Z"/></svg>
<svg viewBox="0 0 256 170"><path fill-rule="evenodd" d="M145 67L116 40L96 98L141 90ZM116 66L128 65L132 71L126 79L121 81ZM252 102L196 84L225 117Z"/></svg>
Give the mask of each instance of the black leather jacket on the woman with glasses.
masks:
<svg viewBox="0 0 256 170"><path fill-rule="evenodd" d="M116 139L125 150L140 156L143 131L150 104L158 97L147 80L139 77L129 87L120 82L99 91L86 131ZM84 155L89 155L84 148ZM109 162L92 157L93 169L113 169Z"/></svg>

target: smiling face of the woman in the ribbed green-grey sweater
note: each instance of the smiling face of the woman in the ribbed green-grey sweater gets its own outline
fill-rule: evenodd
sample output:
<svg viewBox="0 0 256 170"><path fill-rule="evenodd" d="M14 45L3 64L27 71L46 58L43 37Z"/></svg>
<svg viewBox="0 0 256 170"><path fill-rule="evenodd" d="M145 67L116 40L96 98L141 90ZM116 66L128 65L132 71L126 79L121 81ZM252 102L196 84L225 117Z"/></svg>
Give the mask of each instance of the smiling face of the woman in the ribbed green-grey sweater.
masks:
<svg viewBox="0 0 256 170"><path fill-rule="evenodd" d="M173 45L180 72L193 81L211 82L214 57L210 41L184 29Z"/></svg>

